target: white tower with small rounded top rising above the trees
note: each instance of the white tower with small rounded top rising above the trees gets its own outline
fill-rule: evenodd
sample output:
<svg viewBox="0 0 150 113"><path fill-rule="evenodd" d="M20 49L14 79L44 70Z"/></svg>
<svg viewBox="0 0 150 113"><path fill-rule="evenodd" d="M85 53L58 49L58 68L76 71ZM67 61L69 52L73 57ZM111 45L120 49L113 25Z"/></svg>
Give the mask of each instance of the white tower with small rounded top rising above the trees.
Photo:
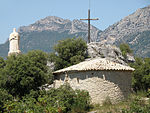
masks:
<svg viewBox="0 0 150 113"><path fill-rule="evenodd" d="M11 54L21 53L19 49L20 35L16 32L16 28L13 29L13 32L9 36L9 52L8 56Z"/></svg>

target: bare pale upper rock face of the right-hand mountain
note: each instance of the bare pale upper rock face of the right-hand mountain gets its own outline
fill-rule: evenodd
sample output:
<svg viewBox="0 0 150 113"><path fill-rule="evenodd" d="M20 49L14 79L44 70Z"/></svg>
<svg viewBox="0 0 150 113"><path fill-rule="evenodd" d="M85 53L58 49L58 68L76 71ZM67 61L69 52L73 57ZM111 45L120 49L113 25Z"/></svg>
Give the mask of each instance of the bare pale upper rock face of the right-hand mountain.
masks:
<svg viewBox="0 0 150 113"><path fill-rule="evenodd" d="M114 44L126 35L146 30L150 30L150 6L138 9L135 13L108 27L102 32L100 40Z"/></svg>

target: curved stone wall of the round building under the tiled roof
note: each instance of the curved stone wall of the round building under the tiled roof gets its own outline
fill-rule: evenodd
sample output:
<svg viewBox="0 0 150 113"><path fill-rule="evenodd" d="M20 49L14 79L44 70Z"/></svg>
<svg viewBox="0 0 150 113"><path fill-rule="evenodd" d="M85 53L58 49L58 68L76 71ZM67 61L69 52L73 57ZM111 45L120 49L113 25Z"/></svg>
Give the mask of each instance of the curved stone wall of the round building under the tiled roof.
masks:
<svg viewBox="0 0 150 113"><path fill-rule="evenodd" d="M86 71L67 73L73 89L87 90L92 103L102 104L106 98L117 103L128 96L131 89L130 71ZM55 88L65 83L65 74L57 75Z"/></svg>

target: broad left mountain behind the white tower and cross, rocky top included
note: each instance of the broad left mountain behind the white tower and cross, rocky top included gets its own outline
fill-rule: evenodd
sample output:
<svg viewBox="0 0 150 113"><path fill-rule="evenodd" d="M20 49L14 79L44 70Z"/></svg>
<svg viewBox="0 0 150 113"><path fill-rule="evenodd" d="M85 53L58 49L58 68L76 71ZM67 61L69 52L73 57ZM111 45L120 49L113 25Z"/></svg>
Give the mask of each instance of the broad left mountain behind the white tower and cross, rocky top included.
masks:
<svg viewBox="0 0 150 113"><path fill-rule="evenodd" d="M87 39L87 24L80 20L67 20L55 16L48 16L29 26L22 26L18 29L20 34L20 49L22 53L29 50L40 49L51 52L58 40L73 37ZM97 41L101 31L91 26L91 41ZM8 54L6 41L0 45L0 56Z"/></svg>

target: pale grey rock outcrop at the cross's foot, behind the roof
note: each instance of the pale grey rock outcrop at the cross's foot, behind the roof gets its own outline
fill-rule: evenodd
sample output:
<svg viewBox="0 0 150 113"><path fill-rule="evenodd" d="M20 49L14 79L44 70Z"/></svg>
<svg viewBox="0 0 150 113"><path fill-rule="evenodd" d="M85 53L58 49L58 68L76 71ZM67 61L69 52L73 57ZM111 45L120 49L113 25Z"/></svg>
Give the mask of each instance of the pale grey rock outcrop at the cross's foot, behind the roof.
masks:
<svg viewBox="0 0 150 113"><path fill-rule="evenodd" d="M127 54L127 57L124 58L122 56L122 52L118 47L115 45L110 45L110 44L102 44L99 42L92 42L88 44L88 50L87 54L89 57L92 58L106 58L111 61L123 64L123 65L128 65L128 62L134 62L135 59L132 55Z"/></svg>

